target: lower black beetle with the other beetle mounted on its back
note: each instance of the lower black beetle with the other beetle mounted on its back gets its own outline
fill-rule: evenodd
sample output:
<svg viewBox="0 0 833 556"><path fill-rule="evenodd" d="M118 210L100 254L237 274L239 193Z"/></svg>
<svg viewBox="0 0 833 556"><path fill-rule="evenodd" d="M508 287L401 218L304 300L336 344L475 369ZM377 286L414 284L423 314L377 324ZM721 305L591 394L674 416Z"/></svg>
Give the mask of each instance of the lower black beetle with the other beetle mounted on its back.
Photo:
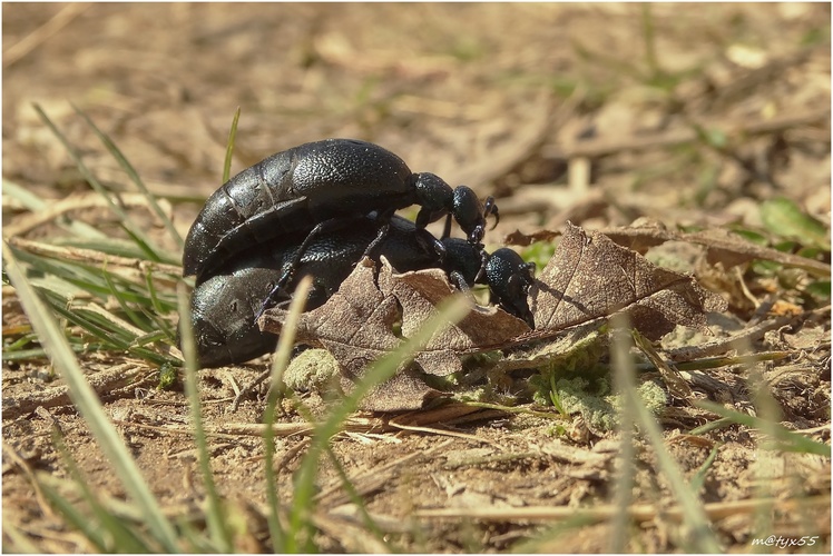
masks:
<svg viewBox="0 0 833 556"><path fill-rule="evenodd" d="M323 305L353 270L376 230L378 224L365 219L356 222L349 234L342 230L316 238L302 254L293 280L277 291L274 300L278 305L287 302L296 280L312 275L313 289L306 309ZM393 217L390 234L374 251L374 258L378 260L384 255L401 272L442 267L461 289L468 289L474 282L489 282L492 300L531 326L528 287L522 286L531 284L532 265L525 264L510 249L499 249L487 256L483 265L480 246L455 238L443 240L445 256L442 264L432 241L416 231L413 222ZM303 234L295 234L274 245L257 246L248 255L226 265L223 271L197 281L192 296L192 319L200 366L243 363L275 348L277 337L261 331L255 322L256 316L264 298L273 291L280 270L296 255L303 239ZM506 261L501 262L503 259Z"/></svg>

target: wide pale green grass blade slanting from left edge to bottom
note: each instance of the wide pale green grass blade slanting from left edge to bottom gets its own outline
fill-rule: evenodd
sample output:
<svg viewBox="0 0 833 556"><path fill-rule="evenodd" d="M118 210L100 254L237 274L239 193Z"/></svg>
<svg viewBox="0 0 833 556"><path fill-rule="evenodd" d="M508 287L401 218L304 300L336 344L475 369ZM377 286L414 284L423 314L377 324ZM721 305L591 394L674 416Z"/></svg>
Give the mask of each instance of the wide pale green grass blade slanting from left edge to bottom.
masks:
<svg viewBox="0 0 833 556"><path fill-rule="evenodd" d="M84 371L55 321L55 317L26 280L22 269L6 241L3 241L3 258L6 271L17 289L18 298L32 328L38 332L52 365L67 383L72 401L121 480L122 487L141 508L145 522L161 547L167 552L178 552L173 525L161 513L130 451L104 411L95 390L85 379Z"/></svg>

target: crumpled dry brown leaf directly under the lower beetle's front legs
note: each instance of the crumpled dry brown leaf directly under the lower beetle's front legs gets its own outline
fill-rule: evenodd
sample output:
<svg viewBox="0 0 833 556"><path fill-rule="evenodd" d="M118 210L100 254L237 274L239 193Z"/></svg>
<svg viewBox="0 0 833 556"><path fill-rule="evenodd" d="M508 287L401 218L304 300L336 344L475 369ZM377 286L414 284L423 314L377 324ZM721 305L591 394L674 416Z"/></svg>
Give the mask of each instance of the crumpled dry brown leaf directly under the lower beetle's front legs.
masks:
<svg viewBox="0 0 833 556"><path fill-rule="evenodd" d="M396 321L401 322L402 336L410 337L435 312L437 304L452 292L448 277L440 269L399 275L383 258L376 280L373 261L365 258L324 306L301 316L297 341L326 348L342 369L342 388L349 390L370 363L402 341L393 332ZM266 311L261 326L280 334L285 316L282 309ZM461 322L435 335L415 360L423 373L449 375L462 370L459 354L501 345L528 330L526 322L502 309L473 306ZM396 376L366 397L363 409L416 409L441 395L419 376L418 369L403 366Z"/></svg>

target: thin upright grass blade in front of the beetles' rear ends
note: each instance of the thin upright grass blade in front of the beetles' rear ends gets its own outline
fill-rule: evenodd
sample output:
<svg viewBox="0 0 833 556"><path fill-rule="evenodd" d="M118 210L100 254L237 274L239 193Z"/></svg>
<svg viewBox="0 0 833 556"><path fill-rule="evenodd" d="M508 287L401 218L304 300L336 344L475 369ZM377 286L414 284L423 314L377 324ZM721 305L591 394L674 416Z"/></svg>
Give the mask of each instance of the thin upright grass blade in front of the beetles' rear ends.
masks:
<svg viewBox="0 0 833 556"><path fill-rule="evenodd" d="M188 294L185 290L185 284L177 286L177 296L179 298L179 327L183 334L183 355L185 356L185 391L188 396L190 406L192 423L194 426L194 440L197 445L197 458L199 460L199 470L203 475L203 483L206 490L208 510L206 520L212 539L216 543L218 552L228 553L234 547L232 534L226 527L223 502L219 499L217 488L214 484L214 474L212 471L212 461L208 456L208 446L203 427L203 414L199 404L199 386L197 383L197 348L194 338L194 330L190 319L190 304Z"/></svg>

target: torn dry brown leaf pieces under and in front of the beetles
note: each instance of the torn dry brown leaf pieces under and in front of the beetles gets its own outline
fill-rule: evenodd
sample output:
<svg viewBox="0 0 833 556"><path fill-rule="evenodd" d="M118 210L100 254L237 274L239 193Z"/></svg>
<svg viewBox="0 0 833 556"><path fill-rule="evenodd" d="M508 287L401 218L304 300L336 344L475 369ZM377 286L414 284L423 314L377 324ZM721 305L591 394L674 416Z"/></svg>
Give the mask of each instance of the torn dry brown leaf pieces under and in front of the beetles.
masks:
<svg viewBox="0 0 833 556"><path fill-rule="evenodd" d="M302 315L297 341L329 350L339 364L342 387L349 388L371 361L423 326L437 305L453 291L442 270L396 274L383 259L376 275L373 262L364 259L324 306ZM676 325L703 329L706 312L726 307L719 296L703 289L692 277L655 267L606 236L587 234L572 225L568 225L528 300L535 330L498 307L472 301L471 312L434 335L415 356L416 367L403 366L393 381L369 396L365 409L420 407L439 395L421 380L420 373L460 373L462 355L512 350L498 367L517 368L525 359L527 367L536 367L541 360L551 363L570 351L580 340L571 330L580 328L591 334L616 312L627 312L636 329L657 339ZM280 334L285 316L282 309L267 311L261 326ZM565 338L571 339L569 346ZM557 346L555 353L541 342ZM533 344L537 347L530 349ZM527 356L520 355L525 349Z"/></svg>

